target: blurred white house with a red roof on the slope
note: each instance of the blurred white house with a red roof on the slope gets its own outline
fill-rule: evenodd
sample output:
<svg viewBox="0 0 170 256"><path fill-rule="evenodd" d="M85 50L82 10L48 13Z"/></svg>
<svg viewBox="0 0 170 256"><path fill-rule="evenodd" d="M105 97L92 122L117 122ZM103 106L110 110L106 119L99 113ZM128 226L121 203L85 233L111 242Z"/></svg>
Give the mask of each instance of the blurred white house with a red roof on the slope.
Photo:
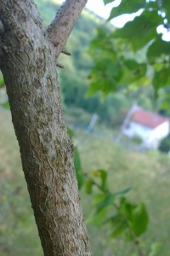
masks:
<svg viewBox="0 0 170 256"><path fill-rule="evenodd" d="M122 133L127 137L140 137L145 148L158 148L161 139L169 133L169 119L134 104L123 122Z"/></svg>

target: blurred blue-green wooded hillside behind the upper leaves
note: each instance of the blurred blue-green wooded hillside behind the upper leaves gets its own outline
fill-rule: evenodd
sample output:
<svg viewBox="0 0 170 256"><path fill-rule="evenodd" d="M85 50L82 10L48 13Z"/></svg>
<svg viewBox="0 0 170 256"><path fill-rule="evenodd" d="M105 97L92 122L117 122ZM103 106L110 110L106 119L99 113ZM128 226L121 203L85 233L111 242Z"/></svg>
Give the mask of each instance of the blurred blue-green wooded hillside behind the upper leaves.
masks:
<svg viewBox="0 0 170 256"><path fill-rule="evenodd" d="M57 9L59 9L59 4L56 4L53 1L49 0L36 0L36 3L42 15L44 26L48 26L51 17L53 17ZM146 86L141 89L137 88L136 85L132 86L132 84L131 87L123 85L118 88L116 94L105 97L105 100L101 100L100 92L97 92L94 96L87 96L88 84L91 81L88 78L88 73L95 64L95 61L93 61L93 58L88 53L88 45L89 42L94 38L94 35L96 35L96 29L98 27L102 27L102 29L105 29L106 34L112 34L112 32L115 30L115 28L110 24L105 24L105 20L99 18L98 16L95 16L88 10L84 10L79 20L77 20L77 24L74 27L73 32L71 33L71 38L69 38L65 46L65 49L71 52L71 57L65 55L61 55L59 57L59 62L65 66L64 70L58 70L59 84L61 89L60 91L65 113L68 113L71 108L72 113L74 113L74 109L82 108L88 113L98 113L100 121L105 121L107 122L107 124L117 126L122 124L122 120L124 119L124 116L132 105L134 99L137 100L139 102L139 105L143 108L146 108L150 111L152 111L153 109L157 109L159 102L157 103L155 101L151 88ZM99 30L102 31L102 29L100 28ZM108 43L107 45L107 37L99 38L99 40L97 40L96 42L98 42L98 44L100 45L99 47L103 47L103 49L105 50L104 55L108 55L108 52L106 52L107 49L110 50L110 54L108 55L108 58L110 59L112 46L110 43ZM122 49L124 47L123 45L124 44L118 44L119 48ZM127 47L125 47L124 52L127 56L132 55ZM102 55L102 52L97 49L96 57L100 57L101 59L101 57L105 57L104 55ZM120 52L119 55L120 63L122 63L122 53ZM136 55L136 60L141 60L141 58L143 58L144 62L145 59L143 53L138 53L138 55ZM112 60L113 56L111 55L111 61ZM104 58L104 65L102 65L105 66L105 64L107 64L105 66L105 69L107 69L109 63L110 62L108 62ZM110 70L108 72L106 72L105 70L105 72L109 73L110 76L112 73L111 68L114 65L115 64L113 61ZM115 69L115 71L116 70L117 69ZM120 74L121 73L119 72L115 74L116 78L118 78ZM107 76L105 77L104 75L99 77L99 84L103 81L102 83L105 85L105 81L103 78L107 79ZM109 77L109 80L111 79L112 76L111 78ZM146 84L146 81L144 83ZM141 82L141 84L144 83ZM107 84L109 84L109 82L107 82ZM105 86L105 90L108 90L107 86ZM111 90L115 90L113 88L114 86L114 84L111 85ZM130 90L128 90L129 88ZM164 93L162 93L161 98L163 94ZM3 95L3 93L1 93L0 103L4 103L5 101L6 97Z"/></svg>

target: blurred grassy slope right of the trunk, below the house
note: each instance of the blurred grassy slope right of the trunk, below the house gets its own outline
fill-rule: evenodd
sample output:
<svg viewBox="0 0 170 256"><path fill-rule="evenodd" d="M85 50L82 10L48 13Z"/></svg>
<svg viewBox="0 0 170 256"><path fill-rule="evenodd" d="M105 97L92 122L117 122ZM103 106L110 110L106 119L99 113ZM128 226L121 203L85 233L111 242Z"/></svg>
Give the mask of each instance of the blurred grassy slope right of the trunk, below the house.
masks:
<svg viewBox="0 0 170 256"><path fill-rule="evenodd" d="M144 201L150 215L148 232L141 239L145 251L148 251L151 242L161 241L163 248L159 255L170 255L170 172L167 156L158 152L139 154L128 151L111 142L111 137L100 140L88 137L79 148L86 172L97 168L108 170L112 191L133 185L128 196L134 201ZM111 242L105 232L99 234L100 241L105 241L108 256L113 254L109 247L113 252L118 250L114 254L117 256L138 255L134 247L122 240Z"/></svg>

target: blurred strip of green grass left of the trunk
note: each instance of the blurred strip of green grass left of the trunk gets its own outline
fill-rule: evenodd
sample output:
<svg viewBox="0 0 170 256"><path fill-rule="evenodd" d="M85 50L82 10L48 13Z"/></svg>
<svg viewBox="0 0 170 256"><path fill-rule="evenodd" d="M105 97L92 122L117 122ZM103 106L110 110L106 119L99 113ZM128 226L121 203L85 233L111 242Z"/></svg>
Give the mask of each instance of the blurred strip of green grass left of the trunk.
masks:
<svg viewBox="0 0 170 256"><path fill-rule="evenodd" d="M8 110L0 123L0 255L42 255Z"/></svg>

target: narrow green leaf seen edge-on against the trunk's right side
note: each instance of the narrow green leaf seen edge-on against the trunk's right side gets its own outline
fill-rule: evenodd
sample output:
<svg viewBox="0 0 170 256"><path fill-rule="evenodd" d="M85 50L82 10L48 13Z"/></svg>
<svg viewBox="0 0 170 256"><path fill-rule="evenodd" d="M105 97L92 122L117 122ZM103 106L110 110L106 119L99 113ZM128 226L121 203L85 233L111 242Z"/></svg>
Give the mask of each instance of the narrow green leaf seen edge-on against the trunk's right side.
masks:
<svg viewBox="0 0 170 256"><path fill-rule="evenodd" d="M78 189L82 188L82 185L84 183L85 177L82 173L82 166L81 166L81 161L78 153L78 149L74 149L74 165L75 165L75 170L77 173L77 182L78 182Z"/></svg>

